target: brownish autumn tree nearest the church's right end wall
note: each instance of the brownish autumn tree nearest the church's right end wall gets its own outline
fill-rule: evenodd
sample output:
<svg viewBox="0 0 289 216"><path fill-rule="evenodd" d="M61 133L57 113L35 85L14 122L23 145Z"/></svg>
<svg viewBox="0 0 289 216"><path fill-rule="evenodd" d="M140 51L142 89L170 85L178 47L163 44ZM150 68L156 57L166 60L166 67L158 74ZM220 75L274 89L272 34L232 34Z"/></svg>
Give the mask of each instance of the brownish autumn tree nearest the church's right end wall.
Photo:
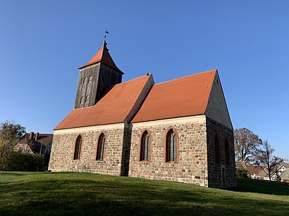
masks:
<svg viewBox="0 0 289 216"><path fill-rule="evenodd" d="M262 139L243 127L234 130L234 144L236 159L247 165L254 161L256 149L262 145Z"/></svg>

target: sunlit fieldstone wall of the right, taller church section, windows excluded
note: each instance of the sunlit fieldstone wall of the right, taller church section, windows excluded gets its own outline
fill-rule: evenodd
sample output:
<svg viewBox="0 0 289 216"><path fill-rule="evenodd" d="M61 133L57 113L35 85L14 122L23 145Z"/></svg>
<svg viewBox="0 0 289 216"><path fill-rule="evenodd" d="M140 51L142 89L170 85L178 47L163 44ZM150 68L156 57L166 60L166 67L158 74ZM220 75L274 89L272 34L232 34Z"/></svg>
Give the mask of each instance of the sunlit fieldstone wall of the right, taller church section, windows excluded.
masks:
<svg viewBox="0 0 289 216"><path fill-rule="evenodd" d="M176 163L165 162L165 137L170 128L178 132ZM151 148L149 161L140 162L140 140L144 130L151 136ZM208 186L205 115L133 123L129 176Z"/></svg>

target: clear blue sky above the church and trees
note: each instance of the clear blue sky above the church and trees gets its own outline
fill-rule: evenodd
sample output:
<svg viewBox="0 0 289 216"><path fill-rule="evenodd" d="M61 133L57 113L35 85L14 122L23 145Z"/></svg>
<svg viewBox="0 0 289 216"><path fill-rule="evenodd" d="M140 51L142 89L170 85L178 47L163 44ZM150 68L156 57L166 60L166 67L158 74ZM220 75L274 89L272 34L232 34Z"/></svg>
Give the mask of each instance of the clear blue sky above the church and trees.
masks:
<svg viewBox="0 0 289 216"><path fill-rule="evenodd" d="M109 30L123 81L217 68L235 128L289 159L289 1L1 1L0 122L53 132Z"/></svg>

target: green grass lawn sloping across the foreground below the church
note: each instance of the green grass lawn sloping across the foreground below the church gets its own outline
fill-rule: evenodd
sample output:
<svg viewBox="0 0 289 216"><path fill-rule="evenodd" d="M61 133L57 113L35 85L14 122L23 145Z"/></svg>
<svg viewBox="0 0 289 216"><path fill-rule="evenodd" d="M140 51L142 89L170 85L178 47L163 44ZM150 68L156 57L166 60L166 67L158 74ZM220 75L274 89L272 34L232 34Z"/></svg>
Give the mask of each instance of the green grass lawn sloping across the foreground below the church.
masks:
<svg viewBox="0 0 289 216"><path fill-rule="evenodd" d="M289 185L238 188L73 172L0 172L0 215L289 215Z"/></svg>

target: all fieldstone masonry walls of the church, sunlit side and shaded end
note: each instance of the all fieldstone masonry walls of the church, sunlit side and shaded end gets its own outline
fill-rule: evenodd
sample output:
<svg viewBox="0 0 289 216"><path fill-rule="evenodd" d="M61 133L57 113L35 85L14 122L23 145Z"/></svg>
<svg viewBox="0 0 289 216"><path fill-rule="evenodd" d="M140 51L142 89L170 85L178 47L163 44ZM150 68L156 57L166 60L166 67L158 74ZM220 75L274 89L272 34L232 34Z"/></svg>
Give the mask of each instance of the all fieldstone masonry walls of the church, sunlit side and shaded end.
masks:
<svg viewBox="0 0 289 216"><path fill-rule="evenodd" d="M165 137L168 129L178 136L178 160L165 162ZM147 130L150 136L148 161L140 161L140 141ZM96 160L100 134L106 137L104 159ZM215 163L214 137L220 143L220 164ZM73 160L75 141L82 136L79 160ZM225 160L225 140L230 150ZM178 117L110 127L94 126L54 132L49 169L51 171L95 172L146 179L186 182L209 187L236 186L233 131L206 115Z"/></svg>

